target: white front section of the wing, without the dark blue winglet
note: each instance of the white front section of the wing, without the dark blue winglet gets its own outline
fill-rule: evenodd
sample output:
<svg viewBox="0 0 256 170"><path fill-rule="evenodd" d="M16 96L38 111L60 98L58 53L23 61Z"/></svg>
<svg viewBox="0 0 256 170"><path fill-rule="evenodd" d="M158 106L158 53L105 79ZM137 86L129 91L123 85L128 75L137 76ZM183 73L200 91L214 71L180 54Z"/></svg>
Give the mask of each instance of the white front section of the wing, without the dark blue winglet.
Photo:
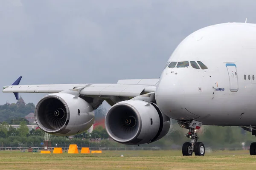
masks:
<svg viewBox="0 0 256 170"><path fill-rule="evenodd" d="M81 95L105 95L135 97L142 92L154 92L156 86L129 84L56 84L56 85L10 85L5 86L4 93L59 93L64 90L83 88Z"/></svg>

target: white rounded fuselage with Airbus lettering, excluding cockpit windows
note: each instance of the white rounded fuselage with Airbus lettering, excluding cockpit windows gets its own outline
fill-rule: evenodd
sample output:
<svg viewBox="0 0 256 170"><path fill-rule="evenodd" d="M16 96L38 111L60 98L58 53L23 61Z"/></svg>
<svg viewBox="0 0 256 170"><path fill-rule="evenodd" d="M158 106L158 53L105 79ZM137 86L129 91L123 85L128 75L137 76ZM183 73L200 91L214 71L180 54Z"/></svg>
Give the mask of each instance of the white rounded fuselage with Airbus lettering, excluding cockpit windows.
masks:
<svg viewBox="0 0 256 170"><path fill-rule="evenodd" d="M256 125L256 24L202 28L186 37L168 61L189 61L189 67L162 72L155 94L164 114L204 125ZM192 68L190 61L208 69Z"/></svg>

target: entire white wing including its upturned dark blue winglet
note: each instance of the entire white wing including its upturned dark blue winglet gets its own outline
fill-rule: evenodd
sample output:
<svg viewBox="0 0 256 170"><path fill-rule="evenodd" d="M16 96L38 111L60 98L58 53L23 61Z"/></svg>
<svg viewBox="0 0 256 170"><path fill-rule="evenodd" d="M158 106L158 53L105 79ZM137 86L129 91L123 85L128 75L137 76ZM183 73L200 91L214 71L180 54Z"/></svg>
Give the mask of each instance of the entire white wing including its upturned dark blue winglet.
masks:
<svg viewBox="0 0 256 170"><path fill-rule="evenodd" d="M4 86L3 92L12 92L18 99L18 93L59 93L79 89L81 96L92 98L111 98L112 96L133 98L141 94L154 92L159 79L119 80L117 84L52 84L52 85L19 85L19 77L12 85Z"/></svg>

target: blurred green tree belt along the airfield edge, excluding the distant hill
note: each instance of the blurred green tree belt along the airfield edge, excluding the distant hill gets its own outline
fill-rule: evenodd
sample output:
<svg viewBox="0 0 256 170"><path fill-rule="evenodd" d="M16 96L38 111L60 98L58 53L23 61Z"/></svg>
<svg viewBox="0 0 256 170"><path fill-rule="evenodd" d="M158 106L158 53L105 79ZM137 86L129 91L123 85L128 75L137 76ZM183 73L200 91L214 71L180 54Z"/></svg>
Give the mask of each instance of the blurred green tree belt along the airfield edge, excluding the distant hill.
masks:
<svg viewBox="0 0 256 170"><path fill-rule="evenodd" d="M180 149L184 142L190 142L184 137L186 133L186 129L173 123L169 133L163 139L151 144L142 144L140 147ZM0 147L18 147L19 143L23 143L23 147L42 147L41 142L44 142L44 134L40 129L29 131L25 121L20 122L20 127L17 129L7 122L3 122L0 124ZM206 147L212 149L241 149L242 142L249 147L251 142L256 141L255 136L244 131L241 127L203 126L198 130L198 136L198 141L204 142ZM77 144L79 147L131 147L111 140L106 130L101 126L97 126L91 133L80 133L73 138L51 135L51 143L52 147L55 147L56 144L58 147L68 147L69 144Z"/></svg>

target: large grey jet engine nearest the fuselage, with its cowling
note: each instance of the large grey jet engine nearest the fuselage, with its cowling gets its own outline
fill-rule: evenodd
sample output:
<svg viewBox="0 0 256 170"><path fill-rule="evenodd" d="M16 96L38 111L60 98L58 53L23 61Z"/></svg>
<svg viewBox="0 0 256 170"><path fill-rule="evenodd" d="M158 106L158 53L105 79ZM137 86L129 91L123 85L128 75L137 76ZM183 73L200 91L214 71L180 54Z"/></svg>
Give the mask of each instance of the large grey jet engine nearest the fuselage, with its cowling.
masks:
<svg viewBox="0 0 256 170"><path fill-rule="evenodd" d="M105 127L116 142L144 144L165 136L170 128L170 118L154 103L128 100L111 107L106 114Z"/></svg>

